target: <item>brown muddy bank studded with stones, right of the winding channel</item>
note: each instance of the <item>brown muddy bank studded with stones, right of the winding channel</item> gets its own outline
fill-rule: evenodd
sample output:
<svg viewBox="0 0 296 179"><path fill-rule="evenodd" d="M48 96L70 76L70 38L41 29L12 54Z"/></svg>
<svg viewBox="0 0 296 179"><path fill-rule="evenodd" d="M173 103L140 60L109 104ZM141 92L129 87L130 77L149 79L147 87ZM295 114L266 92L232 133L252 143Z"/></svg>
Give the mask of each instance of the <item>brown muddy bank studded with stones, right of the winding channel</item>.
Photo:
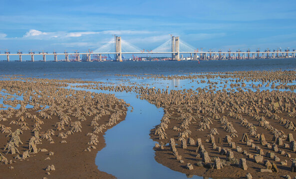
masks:
<svg viewBox="0 0 296 179"><path fill-rule="evenodd" d="M164 108L151 130L155 159L205 177L294 177L296 93L150 89L141 98Z"/></svg>

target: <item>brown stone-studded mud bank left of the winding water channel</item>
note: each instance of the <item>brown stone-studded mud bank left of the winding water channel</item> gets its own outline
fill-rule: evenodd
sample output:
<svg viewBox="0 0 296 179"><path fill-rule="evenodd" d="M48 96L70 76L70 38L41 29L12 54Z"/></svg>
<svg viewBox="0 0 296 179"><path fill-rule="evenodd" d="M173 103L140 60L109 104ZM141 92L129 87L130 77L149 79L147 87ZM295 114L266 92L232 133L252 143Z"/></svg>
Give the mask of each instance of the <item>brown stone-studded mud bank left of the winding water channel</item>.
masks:
<svg viewBox="0 0 296 179"><path fill-rule="evenodd" d="M46 79L0 82L3 103L20 105L0 110L2 178L114 178L97 169L95 156L105 146L104 132L125 119L129 104L66 86Z"/></svg>

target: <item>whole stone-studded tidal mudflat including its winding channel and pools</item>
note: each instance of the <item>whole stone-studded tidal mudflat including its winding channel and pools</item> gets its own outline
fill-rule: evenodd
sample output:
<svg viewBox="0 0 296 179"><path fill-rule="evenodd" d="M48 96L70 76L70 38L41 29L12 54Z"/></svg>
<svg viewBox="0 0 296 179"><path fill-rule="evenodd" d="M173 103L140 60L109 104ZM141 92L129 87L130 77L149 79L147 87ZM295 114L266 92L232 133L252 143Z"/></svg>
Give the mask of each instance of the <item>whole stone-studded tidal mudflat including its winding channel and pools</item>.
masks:
<svg viewBox="0 0 296 179"><path fill-rule="evenodd" d="M2 76L0 87L6 178L296 176L294 69Z"/></svg>

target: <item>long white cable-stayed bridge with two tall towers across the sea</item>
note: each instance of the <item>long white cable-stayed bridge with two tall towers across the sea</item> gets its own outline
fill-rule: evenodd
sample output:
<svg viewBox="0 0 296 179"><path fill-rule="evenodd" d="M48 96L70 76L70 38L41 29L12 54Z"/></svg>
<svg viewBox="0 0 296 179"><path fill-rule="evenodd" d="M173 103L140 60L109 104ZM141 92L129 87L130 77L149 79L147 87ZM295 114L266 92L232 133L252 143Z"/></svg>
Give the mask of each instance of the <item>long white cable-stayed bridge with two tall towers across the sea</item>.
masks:
<svg viewBox="0 0 296 179"><path fill-rule="evenodd" d="M97 48L93 52L86 53L47 53L47 52L28 52L27 54L22 52L17 52L15 54L10 53L8 51L0 54L0 56L6 56L6 60L9 62L9 56L19 56L19 62L22 61L22 56L31 56L31 62L34 62L35 56L42 56L42 61L46 62L46 56L53 56L54 61L57 62L58 55L64 55L64 61L68 62L69 56L70 58L75 58L76 61L80 60L80 55L84 58L85 61L91 61L91 56L96 56L98 61L102 61L102 55L110 55L114 54L115 61L122 61L123 54L167 54L171 55L170 60L180 61L180 54L190 54L190 60L236 60L236 59L266 59L266 58L287 58L292 57L295 58L296 50L290 51L289 49L282 52L282 50L266 50L264 52L260 52L258 49L256 52L251 52L248 50L247 52L242 52L240 50L236 52L232 52L230 49L227 52L203 52L202 49L199 52L198 49L195 50L194 47L187 44L184 41L181 41L178 36L171 36L169 40L165 43L161 44L157 48L145 51L140 48L128 43L121 39L120 36L114 36L114 39L110 40L103 46Z"/></svg>

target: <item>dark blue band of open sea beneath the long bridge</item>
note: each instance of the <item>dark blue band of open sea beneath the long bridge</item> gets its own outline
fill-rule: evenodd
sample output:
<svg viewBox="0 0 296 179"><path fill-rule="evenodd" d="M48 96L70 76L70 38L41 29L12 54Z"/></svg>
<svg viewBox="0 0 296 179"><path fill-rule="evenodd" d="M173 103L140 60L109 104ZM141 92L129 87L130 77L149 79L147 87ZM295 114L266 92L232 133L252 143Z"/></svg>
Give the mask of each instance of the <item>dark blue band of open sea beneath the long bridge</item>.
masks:
<svg viewBox="0 0 296 179"><path fill-rule="evenodd" d="M159 62L0 62L0 75L36 78L78 78L102 80L115 74L185 75L198 72L287 70L296 68L296 59L159 61ZM109 77L108 77L109 76Z"/></svg>

